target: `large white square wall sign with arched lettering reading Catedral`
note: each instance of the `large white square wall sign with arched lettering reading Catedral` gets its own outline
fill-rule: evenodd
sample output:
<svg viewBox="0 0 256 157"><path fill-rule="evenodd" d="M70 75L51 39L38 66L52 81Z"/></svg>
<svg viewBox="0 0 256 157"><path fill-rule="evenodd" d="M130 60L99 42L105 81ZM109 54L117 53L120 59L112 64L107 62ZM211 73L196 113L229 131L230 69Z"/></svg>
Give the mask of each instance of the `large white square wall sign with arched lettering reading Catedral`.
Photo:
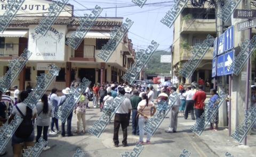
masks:
<svg viewBox="0 0 256 157"><path fill-rule="evenodd" d="M63 61L65 59L66 25L50 27L45 36L37 33L35 25L29 26L28 49L33 51L29 60Z"/></svg>

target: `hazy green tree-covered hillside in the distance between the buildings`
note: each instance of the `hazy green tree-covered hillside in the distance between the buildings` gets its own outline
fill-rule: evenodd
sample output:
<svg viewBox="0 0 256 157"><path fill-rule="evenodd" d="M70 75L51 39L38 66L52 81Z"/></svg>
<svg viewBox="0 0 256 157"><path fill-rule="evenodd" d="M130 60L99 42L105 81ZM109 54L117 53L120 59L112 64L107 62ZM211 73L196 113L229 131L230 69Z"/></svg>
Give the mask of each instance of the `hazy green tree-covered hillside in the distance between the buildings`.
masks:
<svg viewBox="0 0 256 157"><path fill-rule="evenodd" d="M161 63L161 55L171 55L171 53L168 51L156 51L147 64L147 74L170 74L171 63Z"/></svg>

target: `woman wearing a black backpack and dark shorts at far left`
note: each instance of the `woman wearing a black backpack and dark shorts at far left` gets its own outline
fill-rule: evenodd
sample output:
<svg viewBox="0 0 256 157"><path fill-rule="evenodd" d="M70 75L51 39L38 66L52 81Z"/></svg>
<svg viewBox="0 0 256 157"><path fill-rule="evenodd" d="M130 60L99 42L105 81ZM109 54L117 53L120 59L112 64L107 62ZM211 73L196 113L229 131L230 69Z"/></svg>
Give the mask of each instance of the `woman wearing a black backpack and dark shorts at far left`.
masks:
<svg viewBox="0 0 256 157"><path fill-rule="evenodd" d="M12 146L13 146L13 156L19 157L21 155L21 151L23 149L22 144L24 142L25 148L27 149L28 146L34 146L34 126L33 126L33 119L36 118L37 111L36 107L34 109L30 109L26 106L23 101L28 97L27 91L22 91L19 95L20 100L19 103L12 109L12 114L9 118L9 124L14 119L14 116L20 116L23 118L21 124L12 135Z"/></svg>

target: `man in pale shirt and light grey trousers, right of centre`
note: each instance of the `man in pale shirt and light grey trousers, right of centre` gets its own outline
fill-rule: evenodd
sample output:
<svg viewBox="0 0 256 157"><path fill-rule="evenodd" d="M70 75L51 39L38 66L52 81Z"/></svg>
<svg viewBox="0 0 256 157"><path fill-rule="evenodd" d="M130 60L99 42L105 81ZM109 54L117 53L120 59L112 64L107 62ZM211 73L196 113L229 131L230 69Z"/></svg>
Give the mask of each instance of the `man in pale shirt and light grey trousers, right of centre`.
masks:
<svg viewBox="0 0 256 157"><path fill-rule="evenodd" d="M170 94L175 93L177 91L177 88L175 88L174 86L171 88ZM171 97L171 96L170 96ZM170 98L169 97L169 98ZM169 101L169 104L171 102ZM179 106L180 106L180 99L178 99L170 112L170 120L171 123L169 125L169 129L165 130L166 133L176 133L177 132L177 124L178 124L178 114L179 114Z"/></svg>

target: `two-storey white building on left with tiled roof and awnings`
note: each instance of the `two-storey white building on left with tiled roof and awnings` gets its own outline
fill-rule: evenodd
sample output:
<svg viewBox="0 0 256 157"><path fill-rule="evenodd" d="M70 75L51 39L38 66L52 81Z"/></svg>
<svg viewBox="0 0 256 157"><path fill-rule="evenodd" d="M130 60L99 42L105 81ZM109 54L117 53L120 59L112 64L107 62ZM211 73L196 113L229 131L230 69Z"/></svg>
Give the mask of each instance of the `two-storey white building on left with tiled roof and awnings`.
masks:
<svg viewBox="0 0 256 157"><path fill-rule="evenodd" d="M47 12L45 8L49 7L49 3L51 1L25 1L6 31L0 33L0 74L4 75L9 69L9 59L18 57L27 48L33 54L13 83L19 85L20 90L25 89L28 82L34 87L36 76L47 73L51 64L61 70L49 90L53 86L64 89L77 77L86 77L92 82L91 85L123 81L123 74L134 63L132 40L128 39L127 34L107 63L97 57L102 46L110 39L111 29L120 27L123 18L99 17L74 50L65 45L67 38L79 27L80 17L73 15L73 5L66 6L44 37L36 37L34 28L45 15L43 12ZM0 8L1 12L5 11L4 4Z"/></svg>

